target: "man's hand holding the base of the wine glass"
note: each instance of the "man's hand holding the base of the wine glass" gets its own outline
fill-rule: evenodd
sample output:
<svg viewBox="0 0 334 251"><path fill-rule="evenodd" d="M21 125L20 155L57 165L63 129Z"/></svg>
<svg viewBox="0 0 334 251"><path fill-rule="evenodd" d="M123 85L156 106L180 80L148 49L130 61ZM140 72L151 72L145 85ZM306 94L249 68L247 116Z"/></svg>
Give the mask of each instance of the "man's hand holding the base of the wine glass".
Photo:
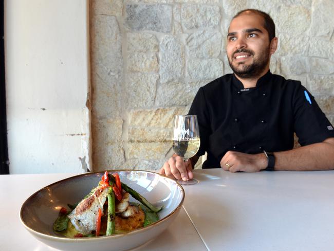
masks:
<svg viewBox="0 0 334 251"><path fill-rule="evenodd" d="M168 161L166 161L163 167L159 170L159 173L164 174L170 178L176 178L176 180L188 181L193 178L193 167L190 160L186 162L178 155L173 155Z"/></svg>

